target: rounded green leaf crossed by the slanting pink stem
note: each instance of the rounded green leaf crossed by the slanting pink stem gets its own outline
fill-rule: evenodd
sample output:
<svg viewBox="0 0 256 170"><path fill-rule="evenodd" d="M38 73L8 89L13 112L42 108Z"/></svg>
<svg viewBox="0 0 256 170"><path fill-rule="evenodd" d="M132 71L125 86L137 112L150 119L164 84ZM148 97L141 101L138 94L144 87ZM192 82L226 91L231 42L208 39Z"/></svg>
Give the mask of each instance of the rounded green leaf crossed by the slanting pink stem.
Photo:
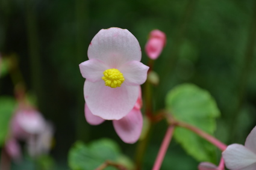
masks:
<svg viewBox="0 0 256 170"><path fill-rule="evenodd" d="M173 88L166 97L166 108L176 120L192 124L213 135L220 112L213 97L196 85ZM190 130L176 127L174 138L198 161L213 162L216 147Z"/></svg>

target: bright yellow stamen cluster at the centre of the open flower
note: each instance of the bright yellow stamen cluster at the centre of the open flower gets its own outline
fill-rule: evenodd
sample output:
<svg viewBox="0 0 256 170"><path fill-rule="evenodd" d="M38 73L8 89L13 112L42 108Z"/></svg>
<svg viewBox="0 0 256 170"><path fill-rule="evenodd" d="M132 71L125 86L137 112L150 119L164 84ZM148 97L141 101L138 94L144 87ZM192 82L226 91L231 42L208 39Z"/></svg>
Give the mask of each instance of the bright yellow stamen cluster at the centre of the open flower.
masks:
<svg viewBox="0 0 256 170"><path fill-rule="evenodd" d="M102 80L105 81L105 85L111 88L121 87L121 84L125 80L123 74L116 68L110 68L103 72L104 76Z"/></svg>

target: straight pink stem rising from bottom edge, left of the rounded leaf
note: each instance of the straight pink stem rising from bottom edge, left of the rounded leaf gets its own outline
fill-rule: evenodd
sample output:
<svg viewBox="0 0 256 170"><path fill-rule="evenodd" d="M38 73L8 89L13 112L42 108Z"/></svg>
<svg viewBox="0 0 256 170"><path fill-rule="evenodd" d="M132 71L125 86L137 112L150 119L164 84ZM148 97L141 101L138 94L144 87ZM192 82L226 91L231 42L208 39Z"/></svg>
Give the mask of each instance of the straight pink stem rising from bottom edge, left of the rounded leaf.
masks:
<svg viewBox="0 0 256 170"><path fill-rule="evenodd" d="M161 167L164 156L166 154L167 148L170 144L170 140L172 139L174 126L170 125L166 131L163 142L161 144L160 150L158 151L157 159L155 160L155 165L152 170L158 170Z"/></svg>

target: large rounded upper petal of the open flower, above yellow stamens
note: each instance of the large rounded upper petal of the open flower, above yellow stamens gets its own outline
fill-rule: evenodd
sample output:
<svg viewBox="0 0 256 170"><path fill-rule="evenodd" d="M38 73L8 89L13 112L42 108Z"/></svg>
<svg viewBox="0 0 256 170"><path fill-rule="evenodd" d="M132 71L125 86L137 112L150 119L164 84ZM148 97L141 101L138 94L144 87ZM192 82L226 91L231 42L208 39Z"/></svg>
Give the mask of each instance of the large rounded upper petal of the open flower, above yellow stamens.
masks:
<svg viewBox="0 0 256 170"><path fill-rule="evenodd" d="M127 29L101 29L93 37L88 48L89 59L99 59L110 68L116 68L125 62L140 61L142 52L136 37Z"/></svg>

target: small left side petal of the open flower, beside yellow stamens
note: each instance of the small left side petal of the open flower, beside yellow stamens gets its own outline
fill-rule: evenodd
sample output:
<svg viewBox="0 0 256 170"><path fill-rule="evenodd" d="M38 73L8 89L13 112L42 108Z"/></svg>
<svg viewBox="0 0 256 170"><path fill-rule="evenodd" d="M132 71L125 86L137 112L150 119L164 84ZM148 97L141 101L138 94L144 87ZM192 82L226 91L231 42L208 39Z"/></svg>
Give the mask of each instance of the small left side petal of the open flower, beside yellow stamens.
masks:
<svg viewBox="0 0 256 170"><path fill-rule="evenodd" d="M107 65L98 59L89 59L79 64L81 74L91 82L101 80L103 72L108 69Z"/></svg>

